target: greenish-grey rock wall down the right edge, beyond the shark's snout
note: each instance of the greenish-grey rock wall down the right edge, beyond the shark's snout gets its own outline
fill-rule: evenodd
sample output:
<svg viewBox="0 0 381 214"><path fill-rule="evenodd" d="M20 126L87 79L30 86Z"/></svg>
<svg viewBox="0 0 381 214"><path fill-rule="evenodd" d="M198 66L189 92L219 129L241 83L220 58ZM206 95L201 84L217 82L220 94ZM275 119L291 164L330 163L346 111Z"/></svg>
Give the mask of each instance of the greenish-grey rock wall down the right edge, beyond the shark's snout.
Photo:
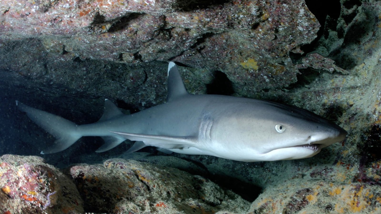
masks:
<svg viewBox="0 0 381 214"><path fill-rule="evenodd" d="M311 158L315 161L294 163L293 178L284 179L290 172L277 170L278 164L265 163L284 182L264 184L251 213L380 212L381 3L341 2L341 14L328 19L318 50L325 48L327 52L320 53L329 55L348 75L321 73L294 102L312 107L315 101L315 112L330 109L325 117L341 123L349 133L347 139L322 150Z"/></svg>

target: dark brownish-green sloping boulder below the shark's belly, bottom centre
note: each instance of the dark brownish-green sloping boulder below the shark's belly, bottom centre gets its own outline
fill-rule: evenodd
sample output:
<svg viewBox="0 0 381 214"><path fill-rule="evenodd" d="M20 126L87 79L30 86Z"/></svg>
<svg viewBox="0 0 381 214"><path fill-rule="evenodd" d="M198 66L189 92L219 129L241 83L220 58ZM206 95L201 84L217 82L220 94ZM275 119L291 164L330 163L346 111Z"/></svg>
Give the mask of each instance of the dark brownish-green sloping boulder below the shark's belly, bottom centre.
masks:
<svg viewBox="0 0 381 214"><path fill-rule="evenodd" d="M250 206L240 196L201 176L134 160L76 165L70 168L70 175L86 212L242 213Z"/></svg>

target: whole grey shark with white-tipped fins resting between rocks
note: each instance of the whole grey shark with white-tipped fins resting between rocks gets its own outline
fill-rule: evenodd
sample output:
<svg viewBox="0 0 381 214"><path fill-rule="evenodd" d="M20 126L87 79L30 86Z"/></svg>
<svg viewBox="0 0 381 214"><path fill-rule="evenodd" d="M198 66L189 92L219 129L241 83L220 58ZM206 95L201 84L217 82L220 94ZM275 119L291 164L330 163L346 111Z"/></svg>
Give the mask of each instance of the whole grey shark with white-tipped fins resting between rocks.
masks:
<svg viewBox="0 0 381 214"><path fill-rule="evenodd" d="M41 154L61 152L82 136L101 136L96 152L110 150L126 139L136 141L127 152L146 146L190 155L213 155L237 161L308 158L347 132L304 109L270 101L223 95L189 94L174 62L168 64L165 104L131 115L106 99L96 123L77 125L21 102L22 112L56 137Z"/></svg>

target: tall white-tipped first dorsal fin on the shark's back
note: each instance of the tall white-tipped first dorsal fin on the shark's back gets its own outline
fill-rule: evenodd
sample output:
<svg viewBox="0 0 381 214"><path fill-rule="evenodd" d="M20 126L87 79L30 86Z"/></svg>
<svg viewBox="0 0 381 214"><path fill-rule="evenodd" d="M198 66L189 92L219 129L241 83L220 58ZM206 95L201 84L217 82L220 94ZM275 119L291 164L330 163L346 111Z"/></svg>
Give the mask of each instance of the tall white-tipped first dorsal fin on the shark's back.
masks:
<svg viewBox="0 0 381 214"><path fill-rule="evenodd" d="M168 95L167 102L188 94L182 82L179 70L174 62L168 64Z"/></svg>

